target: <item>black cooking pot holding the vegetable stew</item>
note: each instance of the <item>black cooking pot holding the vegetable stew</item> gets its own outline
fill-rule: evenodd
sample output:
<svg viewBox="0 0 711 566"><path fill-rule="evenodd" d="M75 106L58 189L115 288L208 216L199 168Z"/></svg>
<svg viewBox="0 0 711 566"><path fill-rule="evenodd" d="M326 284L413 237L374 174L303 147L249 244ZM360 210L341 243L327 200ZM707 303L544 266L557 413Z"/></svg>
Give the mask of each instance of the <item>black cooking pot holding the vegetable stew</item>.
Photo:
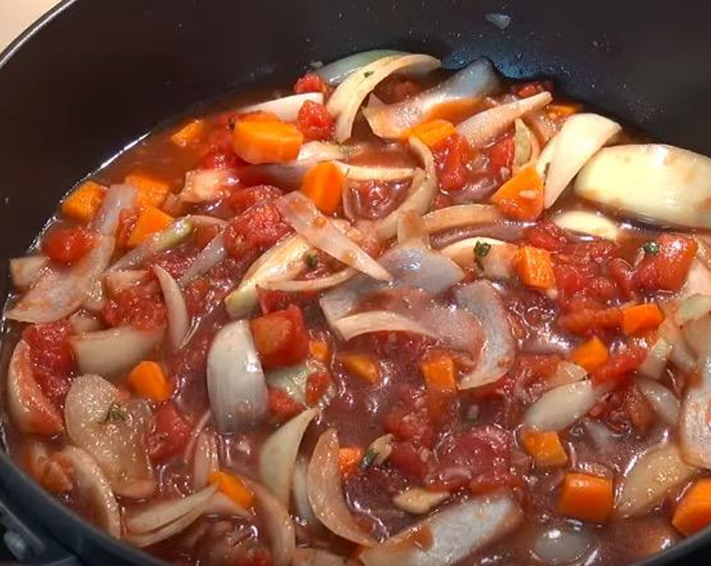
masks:
<svg viewBox="0 0 711 566"><path fill-rule="evenodd" d="M711 154L711 33L701 2L65 0L0 55L0 262L60 196L156 124L316 60L375 47L488 56L654 137ZM488 13L510 16L501 30ZM1 278L6 292L6 277ZM0 513L26 563L158 564L85 523L0 451ZM711 556L701 533L645 565ZM79 557L77 559L77 557Z"/></svg>

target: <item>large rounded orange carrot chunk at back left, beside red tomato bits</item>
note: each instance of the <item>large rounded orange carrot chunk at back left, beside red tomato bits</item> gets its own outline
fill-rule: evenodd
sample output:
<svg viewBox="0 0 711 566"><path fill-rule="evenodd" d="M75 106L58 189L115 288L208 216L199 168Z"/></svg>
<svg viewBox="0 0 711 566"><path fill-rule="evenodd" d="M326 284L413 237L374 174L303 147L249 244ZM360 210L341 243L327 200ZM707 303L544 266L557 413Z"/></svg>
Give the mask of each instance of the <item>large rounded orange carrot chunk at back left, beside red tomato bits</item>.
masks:
<svg viewBox="0 0 711 566"><path fill-rule="evenodd" d="M286 122L238 120L232 149L248 163L283 163L299 156L304 135Z"/></svg>

